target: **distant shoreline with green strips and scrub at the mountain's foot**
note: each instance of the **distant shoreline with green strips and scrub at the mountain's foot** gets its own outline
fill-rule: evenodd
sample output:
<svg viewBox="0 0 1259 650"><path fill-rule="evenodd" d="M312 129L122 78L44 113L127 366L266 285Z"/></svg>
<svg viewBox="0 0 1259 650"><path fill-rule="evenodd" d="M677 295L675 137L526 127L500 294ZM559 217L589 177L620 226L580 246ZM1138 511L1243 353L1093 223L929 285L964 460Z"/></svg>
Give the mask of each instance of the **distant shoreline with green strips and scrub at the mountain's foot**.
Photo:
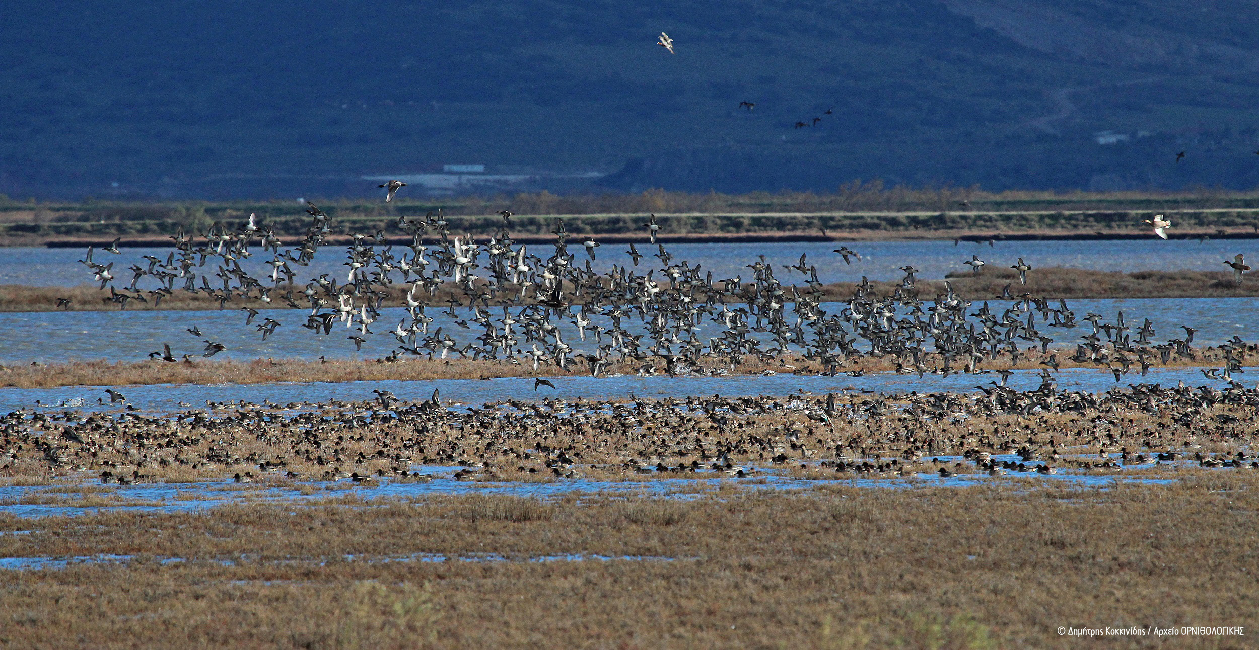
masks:
<svg viewBox="0 0 1259 650"><path fill-rule="evenodd" d="M1259 206L1249 200L1231 207L1204 204L1152 204L1109 210L1095 205L1035 204L1022 210L991 205L914 211L801 211L796 205L779 211L757 211L748 206L709 211L701 206L681 206L679 211L650 207L564 214L525 212L526 207L520 207L520 214L511 215L510 224L496 214L447 214L442 219L451 236L486 241L501 236L506 226L511 238L524 244L553 243L559 224L574 243L584 238L607 244L645 243L650 238L643 224L652 218L658 225L656 239L662 244L1141 240L1155 239L1152 229L1144 224L1155 215L1172 223L1167 231L1171 239L1259 238ZM590 207L609 210L608 206ZM329 205L327 209L332 219L327 241L335 245L350 241L354 233L380 234L388 244L407 245L412 241L409 226L399 226L399 220L418 224L426 215L437 214L426 206ZM0 209L0 246L87 248L111 244L116 238L121 238L118 245L128 248L170 246L172 235L180 230L193 238L200 238L215 225L233 231L253 212L258 215L259 233L271 231L283 245L298 243L310 226L310 215L297 205ZM436 228L424 230L424 236L428 241L436 240Z"/></svg>

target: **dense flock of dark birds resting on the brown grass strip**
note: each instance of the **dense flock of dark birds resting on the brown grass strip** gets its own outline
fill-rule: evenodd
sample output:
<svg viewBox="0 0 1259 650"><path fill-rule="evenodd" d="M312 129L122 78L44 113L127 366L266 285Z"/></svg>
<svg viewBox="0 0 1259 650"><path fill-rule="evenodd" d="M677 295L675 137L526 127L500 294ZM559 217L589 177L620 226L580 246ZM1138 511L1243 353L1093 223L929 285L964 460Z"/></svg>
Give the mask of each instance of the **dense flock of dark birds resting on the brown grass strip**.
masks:
<svg viewBox="0 0 1259 650"><path fill-rule="evenodd" d="M146 415L21 409L0 415L0 475L99 473L103 483L204 480L799 478L1103 471L1171 464L1259 468L1259 390L1129 385L1104 395L993 386L982 394L628 401L206 402ZM121 395L117 400L123 400Z"/></svg>

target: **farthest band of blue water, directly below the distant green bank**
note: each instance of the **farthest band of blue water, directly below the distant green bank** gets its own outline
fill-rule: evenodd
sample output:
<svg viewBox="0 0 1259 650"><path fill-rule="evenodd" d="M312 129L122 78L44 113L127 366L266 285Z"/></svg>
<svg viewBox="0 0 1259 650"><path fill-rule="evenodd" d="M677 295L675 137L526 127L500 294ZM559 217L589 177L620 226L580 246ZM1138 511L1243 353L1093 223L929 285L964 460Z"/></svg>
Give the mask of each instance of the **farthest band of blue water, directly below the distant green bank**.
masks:
<svg viewBox="0 0 1259 650"><path fill-rule="evenodd" d="M597 238L596 238L597 239ZM852 260L845 264L844 260L832 253L840 245L846 245L861 254L861 260ZM432 246L432 244L429 244ZM657 253L655 246L648 244L636 244L640 253L647 255L638 267L638 273L658 264L651 255ZM378 246L380 248L380 246ZM549 245L529 245L543 251ZM580 246L572 246L578 251ZM592 267L596 270L607 270L613 263L630 265L633 263L626 254L628 245L609 244L601 246ZM1171 240L1160 239L1142 240L1087 240L1087 241L996 241L993 245L961 243L954 245L947 241L866 241L866 243L748 243L748 244L670 244L666 249L677 260L687 260L694 267L700 264L703 269L711 270L714 278L733 278L742 274L750 277L747 264L757 260L757 255L765 255L765 259L774 264L774 273L787 282L787 278L799 277L794 272L782 268L784 264L794 264L801 253L808 255L808 264L817 265L817 275L822 282L860 282L862 275L871 280L900 279L904 274L896 270L905 264L913 264L924 279L943 278L951 272L967 272L971 268L964 262L971 255L980 255L980 259L990 263L993 268L1010 267L1020 256L1034 268L1037 267L1074 267L1081 269L1098 270L1221 270L1221 260L1233 258L1238 253L1248 256L1259 253L1259 239L1230 239L1230 240ZM142 255L154 255L166 259L171 249L166 248L125 248L118 255L97 251L93 256L96 262L115 262L115 272L120 278L130 274L126 268L131 264L141 264L147 268ZM254 275L259 275L263 269L263 259L269 255L263 254L261 248L252 249L254 255L242 267ZM405 246L394 246L394 254L400 255L408 250ZM87 249L49 249L49 248L0 248L0 284L33 284L44 287L73 287L76 284L91 283L92 274L87 267L77 260L82 259ZM578 251L579 253L579 251ZM584 264L584 255L578 256L578 263ZM330 277L346 274L345 246L327 246L321 249L310 267L295 268L298 272L297 279L302 283L327 273ZM123 273L117 273L118 270Z"/></svg>

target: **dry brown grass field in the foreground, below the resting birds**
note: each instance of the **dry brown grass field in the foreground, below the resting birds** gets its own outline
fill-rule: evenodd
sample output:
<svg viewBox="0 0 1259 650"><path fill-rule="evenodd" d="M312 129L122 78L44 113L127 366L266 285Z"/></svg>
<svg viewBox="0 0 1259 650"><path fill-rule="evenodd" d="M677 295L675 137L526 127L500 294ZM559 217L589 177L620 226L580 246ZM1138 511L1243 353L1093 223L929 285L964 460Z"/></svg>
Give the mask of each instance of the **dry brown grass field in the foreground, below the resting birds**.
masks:
<svg viewBox="0 0 1259 650"><path fill-rule="evenodd" d="M0 528L37 529L0 537L4 557L135 558L0 572L0 644L1162 646L1056 630L1248 626L1256 487L1230 475L1104 492L827 487L686 502L451 497L0 518ZM415 553L512 561L374 562ZM564 554L677 559L525 561ZM157 562L166 557L186 561Z"/></svg>

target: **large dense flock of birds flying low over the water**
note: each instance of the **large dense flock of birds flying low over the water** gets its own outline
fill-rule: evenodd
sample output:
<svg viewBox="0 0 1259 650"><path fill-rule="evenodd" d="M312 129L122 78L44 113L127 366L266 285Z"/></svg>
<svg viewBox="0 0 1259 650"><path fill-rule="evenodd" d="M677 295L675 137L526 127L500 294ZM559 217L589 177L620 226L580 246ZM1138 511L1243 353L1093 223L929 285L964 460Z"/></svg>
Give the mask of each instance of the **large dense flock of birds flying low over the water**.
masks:
<svg viewBox="0 0 1259 650"><path fill-rule="evenodd" d="M383 187L389 200L402 185L394 181ZM402 251L380 245L387 240L383 231L353 234L345 275L324 273L302 284L297 282L301 268L334 233L332 219L324 210L308 204L307 212L311 223L306 235L291 246L256 215L235 229L215 224L200 238L180 230L171 238L174 250L166 259L146 255L147 265L132 265L131 283L122 289L112 284L113 264L94 260L92 248L81 262L102 288L110 287L106 299L122 307L127 300L160 300L175 292L201 293L220 308L244 302L240 309L247 326L254 324L258 309L286 307L305 313L301 327L312 334L331 336L340 327L358 348L376 331L394 337L397 347L387 361L407 356L499 360L531 366L535 372L543 365L564 372L584 367L592 376L628 363L641 375L663 370L676 376L700 371L703 362L733 372L747 360L786 366L788 358L807 360L835 375L854 361L874 357L895 360L901 372L947 376L976 372L981 363L998 360L1015 367L1030 350L1039 348L1045 381L1050 381L1049 372L1060 365L1059 352L1049 348L1054 342L1050 331L1071 329L1080 322L1090 323L1092 331L1068 358L1109 370L1115 381L1133 368L1144 375L1151 365L1166 365L1173 357L1196 360L1190 346L1192 328L1186 328L1183 338L1157 343L1148 319L1132 328L1122 312L1113 322L1095 313L1081 317L1065 300L1055 306L1012 292L1010 285L993 297L1010 300L1002 308L987 302L974 306L959 298L949 282L943 292L924 297L918 292L918 269L909 264L900 268L905 275L890 294L880 295L862 278L851 298L837 303L826 299L817 264L807 254L796 264L781 265L793 278L779 279L779 265L764 255L747 265L748 277L715 278L656 243L661 226L655 215L642 228L643 245L655 243L656 251L647 255L631 243L627 263L612 264L602 273L592 267L599 243L590 238L572 243L563 220L555 221L550 246L530 249L511 238L509 210L500 212L497 234L483 243L452 236L441 211L422 219L399 216L398 230L410 238ZM1156 229L1170 228L1162 215L1151 221ZM104 250L118 249L115 243ZM242 267L242 260L259 253L267 258L262 267L269 269L266 275ZM833 253L845 263L860 259L847 246ZM658 263L645 264L648 256ZM987 263L972 255L966 264L978 274ZM1240 254L1225 264L1239 283L1250 268ZM1032 267L1019 258L1011 268L1026 285ZM147 290L140 284L146 278L155 284ZM402 308L397 323L381 323L387 306ZM454 324L431 327L438 313ZM263 317L256 328L266 339L281 326L279 319ZM203 336L196 327L188 331ZM210 338L201 342L205 357L227 348ZM1215 368L1215 377L1233 381L1235 373L1244 372L1246 347L1240 338L1221 346L1225 363ZM189 357L183 355L185 361ZM179 361L169 343L150 358ZM535 390L548 386L538 382Z"/></svg>

